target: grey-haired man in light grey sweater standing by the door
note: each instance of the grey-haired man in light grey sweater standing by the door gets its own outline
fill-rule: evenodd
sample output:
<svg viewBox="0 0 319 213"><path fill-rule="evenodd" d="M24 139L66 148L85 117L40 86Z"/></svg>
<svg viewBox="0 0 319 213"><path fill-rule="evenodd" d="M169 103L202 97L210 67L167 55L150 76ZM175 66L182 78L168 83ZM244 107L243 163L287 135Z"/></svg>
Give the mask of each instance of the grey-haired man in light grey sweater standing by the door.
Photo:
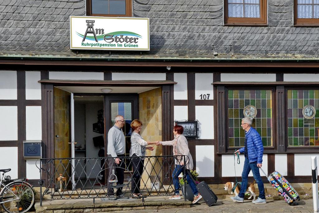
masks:
<svg viewBox="0 0 319 213"><path fill-rule="evenodd" d="M125 163L120 159L120 157L124 157L125 155L125 136L122 131L122 127L125 124L124 117L122 115L117 115L114 119L114 126L108 131L108 167L109 167L109 175L108 180L114 180L115 176L112 175L112 170L114 169L114 173L117 177L117 185L121 185L124 182L124 169ZM112 175L112 176L111 176ZM110 183L108 183L110 186ZM108 188L108 199L116 200L116 198L128 198L125 197L122 192L122 187L116 190L116 196L114 196L114 189Z"/></svg>

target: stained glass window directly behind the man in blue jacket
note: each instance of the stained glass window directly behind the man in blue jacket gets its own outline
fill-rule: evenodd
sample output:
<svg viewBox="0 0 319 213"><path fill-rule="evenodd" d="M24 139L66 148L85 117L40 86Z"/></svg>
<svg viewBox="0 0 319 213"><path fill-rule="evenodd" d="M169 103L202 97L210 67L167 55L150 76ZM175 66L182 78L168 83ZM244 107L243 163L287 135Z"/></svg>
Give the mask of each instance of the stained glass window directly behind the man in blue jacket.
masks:
<svg viewBox="0 0 319 213"><path fill-rule="evenodd" d="M272 91L228 90L228 139L229 147L245 145L245 131L241 127L244 108L253 105L257 109L252 127L260 134L263 146L272 146Z"/></svg>

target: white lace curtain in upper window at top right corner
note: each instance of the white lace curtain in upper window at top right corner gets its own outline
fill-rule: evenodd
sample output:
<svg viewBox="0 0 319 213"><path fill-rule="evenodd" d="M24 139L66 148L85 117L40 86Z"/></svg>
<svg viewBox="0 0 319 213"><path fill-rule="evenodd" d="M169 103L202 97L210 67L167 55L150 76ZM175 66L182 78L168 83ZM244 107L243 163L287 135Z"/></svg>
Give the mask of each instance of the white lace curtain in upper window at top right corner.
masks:
<svg viewBox="0 0 319 213"><path fill-rule="evenodd" d="M297 18L319 18L319 0L298 0L297 4Z"/></svg>

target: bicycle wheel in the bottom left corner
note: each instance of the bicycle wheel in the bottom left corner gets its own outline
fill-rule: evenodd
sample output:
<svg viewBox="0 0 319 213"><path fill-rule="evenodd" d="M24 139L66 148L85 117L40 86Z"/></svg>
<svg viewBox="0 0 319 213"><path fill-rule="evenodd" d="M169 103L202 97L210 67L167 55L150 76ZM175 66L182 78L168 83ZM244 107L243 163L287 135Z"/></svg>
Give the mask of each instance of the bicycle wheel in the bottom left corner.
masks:
<svg viewBox="0 0 319 213"><path fill-rule="evenodd" d="M24 213L31 209L34 203L32 186L24 181L15 181L6 186L0 194L0 200L5 211L9 213Z"/></svg>

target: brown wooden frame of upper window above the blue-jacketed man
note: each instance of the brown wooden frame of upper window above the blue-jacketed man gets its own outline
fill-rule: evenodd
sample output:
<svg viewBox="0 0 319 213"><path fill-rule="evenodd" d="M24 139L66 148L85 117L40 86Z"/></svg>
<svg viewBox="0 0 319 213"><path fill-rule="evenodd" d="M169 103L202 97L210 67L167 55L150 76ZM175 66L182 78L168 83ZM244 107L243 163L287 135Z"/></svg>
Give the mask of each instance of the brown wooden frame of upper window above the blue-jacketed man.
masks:
<svg viewBox="0 0 319 213"><path fill-rule="evenodd" d="M224 1L226 26L267 26L267 0L260 0L260 18L228 17L228 0Z"/></svg>

